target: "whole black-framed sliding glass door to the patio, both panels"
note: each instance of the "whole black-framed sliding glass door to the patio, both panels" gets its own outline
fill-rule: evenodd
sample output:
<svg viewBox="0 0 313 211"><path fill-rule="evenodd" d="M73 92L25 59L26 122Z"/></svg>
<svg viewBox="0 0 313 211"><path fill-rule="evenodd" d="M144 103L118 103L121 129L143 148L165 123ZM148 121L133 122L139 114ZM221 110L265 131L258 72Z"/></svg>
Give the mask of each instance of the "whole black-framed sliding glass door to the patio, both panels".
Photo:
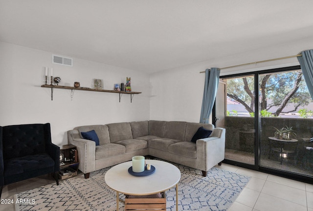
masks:
<svg viewBox="0 0 313 211"><path fill-rule="evenodd" d="M300 66L222 76L225 163L313 178L313 101ZM221 105L213 122L220 121Z"/></svg>

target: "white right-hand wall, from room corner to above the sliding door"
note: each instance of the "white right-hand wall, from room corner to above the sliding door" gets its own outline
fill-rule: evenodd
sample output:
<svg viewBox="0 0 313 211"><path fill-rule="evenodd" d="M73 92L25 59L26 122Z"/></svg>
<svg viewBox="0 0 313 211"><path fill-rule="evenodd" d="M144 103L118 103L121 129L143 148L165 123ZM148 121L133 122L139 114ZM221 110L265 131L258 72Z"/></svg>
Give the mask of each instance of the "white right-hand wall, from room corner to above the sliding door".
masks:
<svg viewBox="0 0 313 211"><path fill-rule="evenodd" d="M242 63L297 55L302 50L312 49L313 39L296 40L276 46L265 46L250 52L243 52L223 58L183 66L150 76L151 99L150 119L166 121L199 122L204 87L204 71L210 67L226 67ZM257 65L246 65L222 69L221 75L251 72L285 66L299 65L296 58L278 60ZM211 118L210 118L211 122Z"/></svg>

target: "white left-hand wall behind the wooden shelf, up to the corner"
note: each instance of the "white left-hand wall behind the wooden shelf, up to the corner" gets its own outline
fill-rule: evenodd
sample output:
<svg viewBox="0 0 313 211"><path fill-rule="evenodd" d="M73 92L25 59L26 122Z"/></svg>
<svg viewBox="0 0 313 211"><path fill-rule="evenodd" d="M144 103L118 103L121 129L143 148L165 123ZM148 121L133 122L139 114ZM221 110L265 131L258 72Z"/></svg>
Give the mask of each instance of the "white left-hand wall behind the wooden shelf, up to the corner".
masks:
<svg viewBox="0 0 313 211"><path fill-rule="evenodd" d="M64 55L66 56L66 55ZM67 144L67 130L76 126L149 120L149 75L130 69L73 58L73 67L52 64L52 53L0 42L0 126L50 123L52 142ZM130 102L130 95L74 91L40 87L45 66L61 77L60 85L91 87L92 79L103 79L104 89L125 83L131 77L132 90L142 92ZM50 83L48 83L50 84Z"/></svg>

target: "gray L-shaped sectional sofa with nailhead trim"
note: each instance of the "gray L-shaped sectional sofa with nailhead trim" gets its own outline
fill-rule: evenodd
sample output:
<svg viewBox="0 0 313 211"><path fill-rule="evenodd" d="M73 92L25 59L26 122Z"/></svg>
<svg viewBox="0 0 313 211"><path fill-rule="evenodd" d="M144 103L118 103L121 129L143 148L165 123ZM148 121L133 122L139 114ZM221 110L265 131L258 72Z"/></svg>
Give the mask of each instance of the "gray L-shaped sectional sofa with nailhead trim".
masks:
<svg viewBox="0 0 313 211"><path fill-rule="evenodd" d="M191 139L203 127L212 130L210 137ZM99 145L84 139L81 132L94 130ZM225 129L211 124L141 121L75 127L67 131L68 143L78 149L79 169L89 173L132 160L135 155L151 155L170 162L207 170L224 160Z"/></svg>

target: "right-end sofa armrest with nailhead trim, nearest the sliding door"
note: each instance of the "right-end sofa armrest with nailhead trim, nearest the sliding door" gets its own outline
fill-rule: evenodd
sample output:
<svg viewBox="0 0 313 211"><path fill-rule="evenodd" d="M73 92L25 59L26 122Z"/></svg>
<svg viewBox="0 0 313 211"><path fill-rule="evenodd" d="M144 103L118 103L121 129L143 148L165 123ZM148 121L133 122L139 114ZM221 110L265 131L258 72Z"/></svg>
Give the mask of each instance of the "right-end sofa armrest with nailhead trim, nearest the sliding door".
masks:
<svg viewBox="0 0 313 211"><path fill-rule="evenodd" d="M214 128L211 137L199 139L196 144L198 169L207 171L224 160L225 129Z"/></svg>

